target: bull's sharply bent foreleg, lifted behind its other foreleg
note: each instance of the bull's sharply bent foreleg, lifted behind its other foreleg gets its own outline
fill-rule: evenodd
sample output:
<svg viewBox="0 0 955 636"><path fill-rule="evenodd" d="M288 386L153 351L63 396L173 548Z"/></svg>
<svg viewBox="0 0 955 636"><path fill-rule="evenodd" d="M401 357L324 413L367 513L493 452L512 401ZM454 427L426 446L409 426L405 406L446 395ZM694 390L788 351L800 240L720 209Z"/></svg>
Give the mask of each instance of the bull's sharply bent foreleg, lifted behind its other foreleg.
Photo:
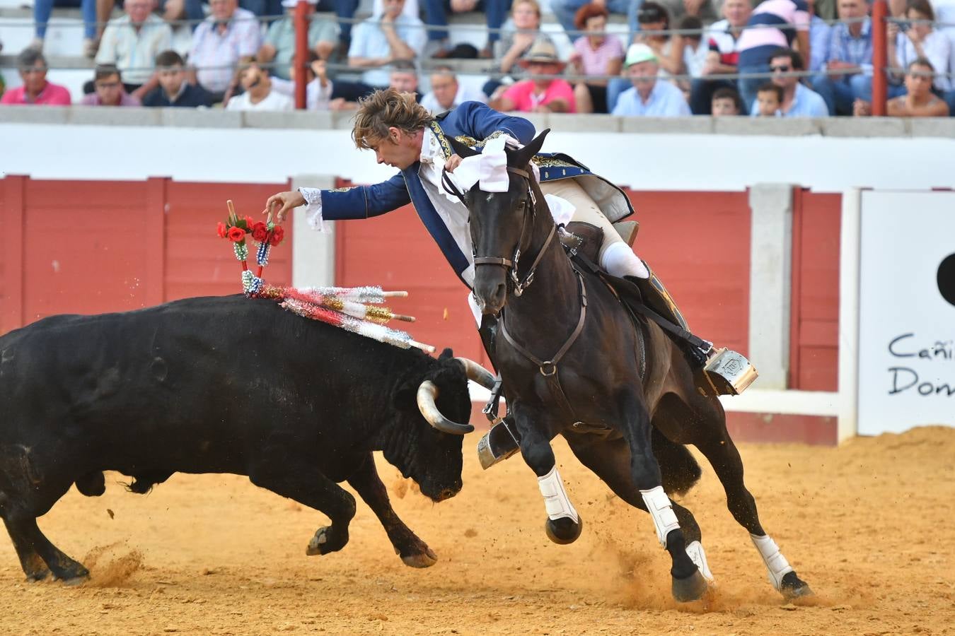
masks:
<svg viewBox="0 0 955 636"><path fill-rule="evenodd" d="M307 462L263 463L249 471L249 480L277 495L295 500L328 515L331 525L315 531L306 554L337 552L349 543L349 523L355 516L355 499Z"/></svg>

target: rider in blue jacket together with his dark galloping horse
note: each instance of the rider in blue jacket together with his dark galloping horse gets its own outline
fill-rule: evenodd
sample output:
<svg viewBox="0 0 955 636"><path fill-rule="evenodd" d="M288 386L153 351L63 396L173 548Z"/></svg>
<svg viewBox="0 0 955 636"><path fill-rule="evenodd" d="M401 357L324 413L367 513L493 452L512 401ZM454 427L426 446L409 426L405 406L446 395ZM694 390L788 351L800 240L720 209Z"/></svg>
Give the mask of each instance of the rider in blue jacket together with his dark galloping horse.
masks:
<svg viewBox="0 0 955 636"><path fill-rule="evenodd" d="M546 131L534 137L529 121L477 102L433 117L413 94L374 92L361 102L352 135L359 149L400 173L371 186L279 193L265 211L281 222L305 206L308 222L320 228L323 219L414 203L471 289L481 340L500 372L497 381L483 381L492 389L485 412L496 425L478 456L486 468L520 447L538 477L552 541L571 543L583 527L550 446L560 434L623 501L649 513L672 559L673 597L702 598L712 575L700 528L669 498L700 476L686 448L693 444L723 482L775 588L790 598L812 593L759 522L716 399L721 389L744 389L754 370L734 352L711 355L711 343L690 334L663 285L611 225L633 212L619 188L564 154L540 154ZM589 246L555 221L582 222L581 235L594 236ZM528 256L519 264L521 252ZM535 273L540 282L528 291ZM557 353L538 359L534 350ZM501 391L509 413L498 420Z"/></svg>

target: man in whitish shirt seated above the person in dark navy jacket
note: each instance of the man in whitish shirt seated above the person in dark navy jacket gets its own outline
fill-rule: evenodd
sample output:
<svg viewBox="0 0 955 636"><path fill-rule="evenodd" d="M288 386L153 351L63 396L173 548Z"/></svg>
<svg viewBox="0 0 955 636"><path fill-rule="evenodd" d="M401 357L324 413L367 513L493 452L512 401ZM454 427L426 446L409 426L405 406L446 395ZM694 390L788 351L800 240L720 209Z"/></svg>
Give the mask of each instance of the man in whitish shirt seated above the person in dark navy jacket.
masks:
<svg viewBox="0 0 955 636"><path fill-rule="evenodd" d="M153 0L125 0L125 15L106 25L96 52L96 64L116 66L126 90L139 100L159 86L156 56L172 47L173 30L152 8Z"/></svg>

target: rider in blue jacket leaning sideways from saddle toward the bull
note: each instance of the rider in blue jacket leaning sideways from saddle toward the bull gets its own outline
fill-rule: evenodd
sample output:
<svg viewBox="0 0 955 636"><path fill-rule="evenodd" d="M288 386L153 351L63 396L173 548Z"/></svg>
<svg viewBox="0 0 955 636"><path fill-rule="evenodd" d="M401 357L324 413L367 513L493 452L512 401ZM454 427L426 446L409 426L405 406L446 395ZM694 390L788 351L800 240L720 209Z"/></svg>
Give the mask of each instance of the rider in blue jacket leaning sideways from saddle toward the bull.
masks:
<svg viewBox="0 0 955 636"><path fill-rule="evenodd" d="M508 144L527 144L534 137L534 125L521 117L498 113L479 102L465 102L435 117L416 104L411 93L388 89L374 92L362 101L352 135L358 148L373 150L378 163L401 172L371 186L333 190L300 188L272 195L265 204L266 211L274 212L278 208L277 218L281 222L293 208L306 206L309 224L320 229L323 219L368 218L412 202L457 277L473 289L475 263L468 210L461 201L446 195L447 188L442 183L442 172L454 173L461 163L449 137L478 150L499 137ZM603 243L597 264L611 276L635 282L651 313L673 325L669 331L690 359L701 367L706 364L708 356L716 353L711 343L690 334L686 319L663 283L612 225L633 214L624 192L566 154L538 154L534 157L534 166L541 192L555 217L563 214L564 220L583 221L600 228ZM469 295L468 300L476 317L479 316L475 297ZM493 356L487 346L489 331L482 329L481 337L488 355ZM732 385L725 381L710 383L710 386L717 392L732 391ZM487 436L491 443L482 445L485 467L517 450L513 438L513 431L505 430L500 424L492 429Z"/></svg>

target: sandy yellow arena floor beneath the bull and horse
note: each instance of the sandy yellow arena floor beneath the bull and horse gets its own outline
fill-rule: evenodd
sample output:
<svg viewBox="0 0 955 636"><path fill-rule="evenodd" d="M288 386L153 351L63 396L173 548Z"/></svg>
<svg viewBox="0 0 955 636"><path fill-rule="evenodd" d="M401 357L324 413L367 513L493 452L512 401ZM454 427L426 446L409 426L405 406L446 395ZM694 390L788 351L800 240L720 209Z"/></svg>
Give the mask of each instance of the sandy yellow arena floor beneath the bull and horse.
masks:
<svg viewBox="0 0 955 636"><path fill-rule="evenodd" d="M787 604L766 581L709 465L684 503L718 589L669 596L668 558L645 513L610 495L555 442L584 534L551 544L530 470L481 472L465 440L464 490L432 504L379 462L398 514L437 552L394 556L364 503L341 552L307 557L316 511L245 478L176 475L148 496L107 474L40 527L90 567L76 587L24 583L0 537L0 634L955 634L955 430L843 447L743 445L763 525L817 592Z"/></svg>

